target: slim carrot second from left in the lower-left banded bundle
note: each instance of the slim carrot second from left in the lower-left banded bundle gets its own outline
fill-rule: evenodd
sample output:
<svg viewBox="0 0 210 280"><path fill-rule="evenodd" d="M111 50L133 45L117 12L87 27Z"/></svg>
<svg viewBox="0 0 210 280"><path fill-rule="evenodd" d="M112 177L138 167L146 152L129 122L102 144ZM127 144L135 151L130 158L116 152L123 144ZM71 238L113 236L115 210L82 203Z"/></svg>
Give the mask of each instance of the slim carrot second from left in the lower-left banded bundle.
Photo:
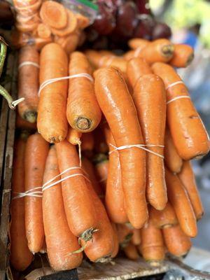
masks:
<svg viewBox="0 0 210 280"><path fill-rule="evenodd" d="M45 160L49 144L36 133L27 139L25 151L25 191L36 196L25 197L25 229L29 249L32 253L41 250L44 240L42 197ZM37 193L36 193L37 192Z"/></svg>

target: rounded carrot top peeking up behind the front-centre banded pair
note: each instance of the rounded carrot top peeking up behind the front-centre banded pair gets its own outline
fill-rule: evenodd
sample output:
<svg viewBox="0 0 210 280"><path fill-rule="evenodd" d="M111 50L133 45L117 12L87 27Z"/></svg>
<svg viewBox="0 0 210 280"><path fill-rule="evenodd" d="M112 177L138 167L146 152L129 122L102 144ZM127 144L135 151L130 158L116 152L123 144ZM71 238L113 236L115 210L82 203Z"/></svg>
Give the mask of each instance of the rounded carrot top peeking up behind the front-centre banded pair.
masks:
<svg viewBox="0 0 210 280"><path fill-rule="evenodd" d="M127 76L133 88L141 76L151 73L153 73L153 71L144 58L135 57L127 62Z"/></svg>

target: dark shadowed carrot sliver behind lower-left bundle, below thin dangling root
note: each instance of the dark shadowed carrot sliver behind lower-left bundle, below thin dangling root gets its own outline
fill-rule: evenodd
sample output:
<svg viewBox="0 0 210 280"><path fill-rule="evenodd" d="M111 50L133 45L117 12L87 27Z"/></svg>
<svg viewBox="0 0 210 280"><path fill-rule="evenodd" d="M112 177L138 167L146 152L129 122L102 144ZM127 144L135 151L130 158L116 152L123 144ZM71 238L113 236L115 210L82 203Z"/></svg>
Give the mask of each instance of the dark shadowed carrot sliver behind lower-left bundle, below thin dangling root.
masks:
<svg viewBox="0 0 210 280"><path fill-rule="evenodd" d="M95 176L94 172L94 166L92 165L92 162L88 160L87 158L82 158L82 167L89 175L89 179L92 183L92 187L94 188L95 193L99 195L100 198L104 197L104 190L102 189L102 186L99 185L99 182Z"/></svg>

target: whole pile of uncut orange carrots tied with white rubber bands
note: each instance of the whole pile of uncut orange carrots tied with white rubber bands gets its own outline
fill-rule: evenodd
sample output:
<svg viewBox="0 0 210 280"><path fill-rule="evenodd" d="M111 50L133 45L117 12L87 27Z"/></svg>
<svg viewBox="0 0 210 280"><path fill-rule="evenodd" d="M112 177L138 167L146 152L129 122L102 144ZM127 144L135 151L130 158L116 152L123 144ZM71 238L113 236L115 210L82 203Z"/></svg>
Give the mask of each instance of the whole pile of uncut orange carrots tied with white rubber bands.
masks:
<svg viewBox="0 0 210 280"><path fill-rule="evenodd" d="M19 76L25 97L33 83L39 134L15 147L15 269L24 270L38 252L64 270L85 256L109 261L119 248L152 265L167 252L190 250L204 213L190 160L209 152L209 139L173 66L186 66L193 50L166 39L130 46L137 51L124 57L93 50L68 57L57 43L45 45L39 60L32 48L20 53L33 51L39 66L39 80L36 71L30 82L22 76L32 64Z"/></svg>

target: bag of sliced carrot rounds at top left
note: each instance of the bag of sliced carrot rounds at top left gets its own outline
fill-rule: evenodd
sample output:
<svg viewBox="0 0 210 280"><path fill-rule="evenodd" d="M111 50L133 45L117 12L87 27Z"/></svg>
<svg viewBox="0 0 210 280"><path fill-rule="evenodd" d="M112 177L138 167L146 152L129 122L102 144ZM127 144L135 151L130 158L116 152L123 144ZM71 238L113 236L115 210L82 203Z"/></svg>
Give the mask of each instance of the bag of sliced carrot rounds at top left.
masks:
<svg viewBox="0 0 210 280"><path fill-rule="evenodd" d="M70 53L83 44L83 29L89 25L89 19L84 15L73 13L51 0L14 0L13 4L18 29L18 34L17 30L14 32L14 45L34 43L36 49L41 50L47 43L55 41Z"/></svg>

